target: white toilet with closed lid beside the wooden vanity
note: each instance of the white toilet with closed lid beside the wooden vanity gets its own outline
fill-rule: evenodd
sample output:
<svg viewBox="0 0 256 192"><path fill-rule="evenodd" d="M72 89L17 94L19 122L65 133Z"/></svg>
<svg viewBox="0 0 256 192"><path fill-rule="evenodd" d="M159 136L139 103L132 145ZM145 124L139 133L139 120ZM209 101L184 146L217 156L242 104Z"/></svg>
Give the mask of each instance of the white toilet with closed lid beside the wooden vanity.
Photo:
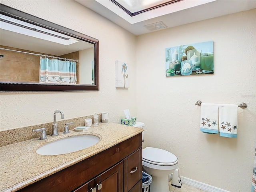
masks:
<svg viewBox="0 0 256 192"><path fill-rule="evenodd" d="M143 129L144 126L145 124L142 122L137 122L134 125L134 127ZM143 142L144 132L142 132L142 144ZM168 175L177 171L178 157L166 150L146 147L142 149L142 169L144 172L152 176L150 192L169 192ZM178 179L178 185L181 186L182 181L180 178Z"/></svg>

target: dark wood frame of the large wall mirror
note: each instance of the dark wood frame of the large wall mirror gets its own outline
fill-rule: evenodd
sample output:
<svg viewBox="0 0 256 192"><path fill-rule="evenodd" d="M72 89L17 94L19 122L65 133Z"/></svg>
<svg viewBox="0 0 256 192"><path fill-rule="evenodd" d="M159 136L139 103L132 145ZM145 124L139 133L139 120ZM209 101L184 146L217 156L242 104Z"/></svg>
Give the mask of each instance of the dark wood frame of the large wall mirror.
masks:
<svg viewBox="0 0 256 192"><path fill-rule="evenodd" d="M1 92L48 92L48 91L99 91L99 40L0 4L3 15L34 24L48 30L59 32L85 42L94 44L94 85L84 84L44 84L27 82L0 82Z"/></svg>

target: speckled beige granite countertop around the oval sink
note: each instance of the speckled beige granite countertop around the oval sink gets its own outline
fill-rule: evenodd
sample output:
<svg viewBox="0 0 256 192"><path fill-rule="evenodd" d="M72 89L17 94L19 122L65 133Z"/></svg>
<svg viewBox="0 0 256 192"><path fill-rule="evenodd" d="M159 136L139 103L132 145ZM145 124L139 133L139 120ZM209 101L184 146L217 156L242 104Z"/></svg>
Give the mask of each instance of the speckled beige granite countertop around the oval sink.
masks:
<svg viewBox="0 0 256 192"><path fill-rule="evenodd" d="M142 128L115 123L92 125L89 130L59 136L48 135L0 147L0 191L14 192L64 168L76 164L143 131ZM49 142L75 135L96 135L100 141L84 150L62 155L39 155L36 150ZM40 135L40 134L38 134Z"/></svg>

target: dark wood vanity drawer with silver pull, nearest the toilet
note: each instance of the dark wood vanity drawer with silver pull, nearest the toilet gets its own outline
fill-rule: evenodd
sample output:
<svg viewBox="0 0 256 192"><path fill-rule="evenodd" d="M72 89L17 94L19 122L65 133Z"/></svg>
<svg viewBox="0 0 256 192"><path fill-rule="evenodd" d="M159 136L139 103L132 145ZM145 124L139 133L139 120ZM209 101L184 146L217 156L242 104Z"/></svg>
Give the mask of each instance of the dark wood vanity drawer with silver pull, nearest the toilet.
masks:
<svg viewBox="0 0 256 192"><path fill-rule="evenodd" d="M124 159L124 186L127 186L124 192L130 191L141 179L142 148Z"/></svg>

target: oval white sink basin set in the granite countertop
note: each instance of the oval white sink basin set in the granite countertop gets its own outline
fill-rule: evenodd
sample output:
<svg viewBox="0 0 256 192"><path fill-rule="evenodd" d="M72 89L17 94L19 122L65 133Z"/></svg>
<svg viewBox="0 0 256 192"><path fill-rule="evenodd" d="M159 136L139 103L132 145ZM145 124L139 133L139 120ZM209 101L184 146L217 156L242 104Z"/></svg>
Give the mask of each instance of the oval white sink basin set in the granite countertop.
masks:
<svg viewBox="0 0 256 192"><path fill-rule="evenodd" d="M94 135L77 135L56 140L36 150L40 155L60 155L76 152L95 145L100 138Z"/></svg>

